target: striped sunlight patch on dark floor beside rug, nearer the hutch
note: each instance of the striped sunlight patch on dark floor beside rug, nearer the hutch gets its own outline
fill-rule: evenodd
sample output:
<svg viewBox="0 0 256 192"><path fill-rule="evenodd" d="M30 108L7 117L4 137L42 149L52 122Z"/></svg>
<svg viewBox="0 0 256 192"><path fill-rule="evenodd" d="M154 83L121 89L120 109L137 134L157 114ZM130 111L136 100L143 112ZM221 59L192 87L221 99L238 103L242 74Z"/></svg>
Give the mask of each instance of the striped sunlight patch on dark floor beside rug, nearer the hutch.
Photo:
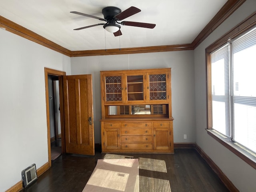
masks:
<svg viewBox="0 0 256 192"><path fill-rule="evenodd" d="M139 158L139 168L167 173L165 161L159 159Z"/></svg>

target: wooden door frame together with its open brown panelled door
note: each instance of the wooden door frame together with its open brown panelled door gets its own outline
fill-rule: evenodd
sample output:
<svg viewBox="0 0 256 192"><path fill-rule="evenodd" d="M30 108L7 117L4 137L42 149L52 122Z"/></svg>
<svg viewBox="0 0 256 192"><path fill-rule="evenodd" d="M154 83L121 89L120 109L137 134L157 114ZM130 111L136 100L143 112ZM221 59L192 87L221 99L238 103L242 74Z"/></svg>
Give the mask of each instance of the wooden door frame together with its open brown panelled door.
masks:
<svg viewBox="0 0 256 192"><path fill-rule="evenodd" d="M52 80L48 76L52 76ZM52 165L49 103L53 96L49 94L48 81L57 81L56 77L60 93L61 151L94 155L92 74L66 76L66 72L44 68L49 168ZM57 87L57 83L53 86ZM55 132L54 137L58 140L57 128Z"/></svg>

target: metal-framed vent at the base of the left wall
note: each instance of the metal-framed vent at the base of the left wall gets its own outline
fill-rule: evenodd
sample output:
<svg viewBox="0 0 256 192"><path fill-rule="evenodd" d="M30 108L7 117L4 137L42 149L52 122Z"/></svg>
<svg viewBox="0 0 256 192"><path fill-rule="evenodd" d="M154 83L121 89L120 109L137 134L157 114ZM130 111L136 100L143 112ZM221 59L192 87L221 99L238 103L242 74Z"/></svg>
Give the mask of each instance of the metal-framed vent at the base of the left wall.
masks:
<svg viewBox="0 0 256 192"><path fill-rule="evenodd" d="M22 185L24 188L28 187L32 182L37 180L36 164L32 164L21 172Z"/></svg>

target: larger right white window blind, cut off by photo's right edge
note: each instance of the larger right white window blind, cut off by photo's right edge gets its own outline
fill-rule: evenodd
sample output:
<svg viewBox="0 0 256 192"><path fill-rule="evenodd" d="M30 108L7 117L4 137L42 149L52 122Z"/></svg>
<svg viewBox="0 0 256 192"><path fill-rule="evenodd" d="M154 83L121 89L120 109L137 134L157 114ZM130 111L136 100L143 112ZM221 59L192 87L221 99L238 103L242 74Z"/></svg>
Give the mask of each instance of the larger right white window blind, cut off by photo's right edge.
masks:
<svg viewBox="0 0 256 192"><path fill-rule="evenodd" d="M256 28L232 42L232 139L256 152Z"/></svg>

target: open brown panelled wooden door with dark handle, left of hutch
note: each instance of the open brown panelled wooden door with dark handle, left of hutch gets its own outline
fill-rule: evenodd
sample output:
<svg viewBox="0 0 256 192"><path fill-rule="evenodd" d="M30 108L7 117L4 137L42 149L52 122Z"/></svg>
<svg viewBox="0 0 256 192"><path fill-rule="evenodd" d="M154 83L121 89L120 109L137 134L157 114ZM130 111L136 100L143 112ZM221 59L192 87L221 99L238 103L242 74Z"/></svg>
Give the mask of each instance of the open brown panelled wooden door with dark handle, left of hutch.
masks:
<svg viewBox="0 0 256 192"><path fill-rule="evenodd" d="M66 153L94 155L92 75L63 76Z"/></svg>

